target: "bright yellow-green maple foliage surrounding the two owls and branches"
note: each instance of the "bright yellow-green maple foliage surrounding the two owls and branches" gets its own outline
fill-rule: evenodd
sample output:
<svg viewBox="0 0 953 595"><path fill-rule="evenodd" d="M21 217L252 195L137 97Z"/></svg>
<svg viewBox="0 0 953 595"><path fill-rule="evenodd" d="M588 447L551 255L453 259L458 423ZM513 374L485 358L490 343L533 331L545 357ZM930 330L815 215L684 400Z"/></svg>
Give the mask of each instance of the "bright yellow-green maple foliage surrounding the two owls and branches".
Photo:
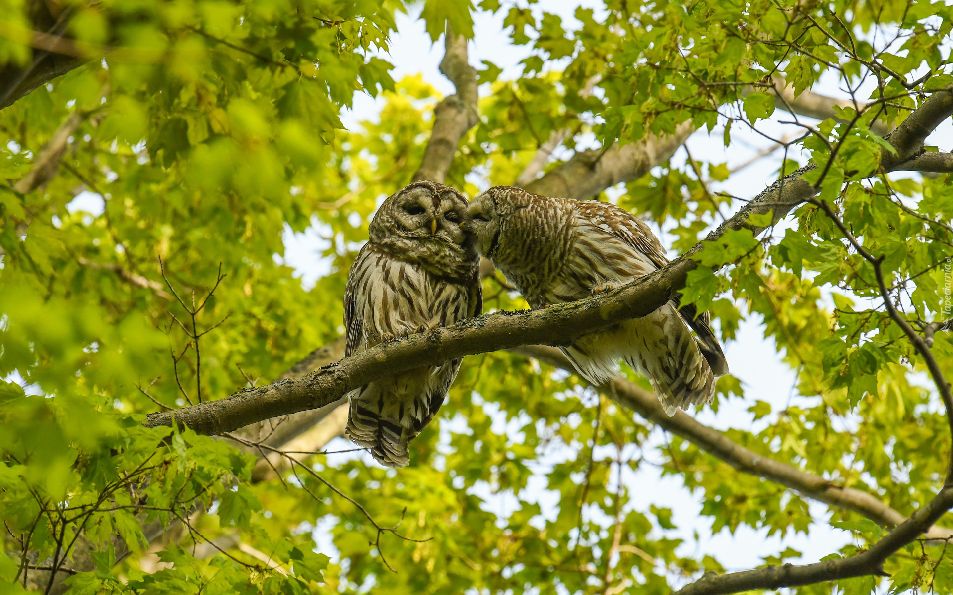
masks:
<svg viewBox="0 0 953 595"><path fill-rule="evenodd" d="M0 177L10 180L0 185L0 592L50 590L49 573L32 570L37 584L27 567L80 567L83 556L94 569L71 574L70 592L664 593L723 571L681 546L671 509L636 504L628 480L651 466L693 490L713 532L785 535L824 522L797 492L679 437L659 442L578 377L510 353L466 360L399 471L315 454L280 480L253 481L257 451L142 427L158 407L277 378L338 336L347 270L376 206L418 167L439 96L419 77L395 82L377 55L395 12L408 10L395 0L65 5L77 47L97 57L0 111ZM0 6L0 64L26 64L34 4ZM472 33L477 9L427 0L411 10L436 39L447 22ZM473 171L512 184L558 131L564 149L581 150L593 136L609 148L691 122L730 147L733 130L767 135L795 117L776 108L775 74L798 93L865 83L872 94L856 99L869 109L799 120L780 174L818 166L807 175L819 200L883 256L907 320L922 330L949 318L950 176L877 173L884 143L871 130L953 82L950 7L607 1L578 9L577 29L521 4L478 10L499 13L532 55L516 80L483 65L481 121L448 184L473 196ZM356 92L382 98L380 120L346 130L339 114ZM71 114L81 123L56 174L14 189ZM691 156L656 165L599 198L671 229L676 250L740 207L718 188L743 172ZM309 226L328 240L314 257L329 269L305 289L283 264L283 238ZM825 211L805 205L761 237L728 233L699 260L684 301L709 309L725 340L741 319L762 320L802 397L781 410L747 398L758 429L726 435L903 514L923 506L950 450L943 406L882 307L874 268ZM488 308L525 307L501 280L484 283ZM936 333L932 351L953 369L948 334ZM719 400L729 398L744 395L726 376ZM543 489L557 505L539 504ZM497 514L485 494L517 506ZM856 512L832 513L856 536L835 556L882 536ZM334 564L314 551L318 526ZM889 560L889 582L837 588L953 592L950 556L914 543Z"/></svg>

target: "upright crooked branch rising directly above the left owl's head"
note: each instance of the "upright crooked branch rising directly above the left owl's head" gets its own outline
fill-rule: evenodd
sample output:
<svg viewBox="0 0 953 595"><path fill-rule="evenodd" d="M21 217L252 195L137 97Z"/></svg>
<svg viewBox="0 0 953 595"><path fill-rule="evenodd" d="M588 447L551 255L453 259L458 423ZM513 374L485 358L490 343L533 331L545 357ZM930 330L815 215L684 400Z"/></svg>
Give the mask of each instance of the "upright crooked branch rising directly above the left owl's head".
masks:
<svg viewBox="0 0 953 595"><path fill-rule="evenodd" d="M420 169L414 174L414 182L431 180L442 184L454 162L460 139L479 122L476 69L467 62L467 40L462 35L454 35L448 27L444 43L447 52L440 61L440 72L454 83L456 93L445 97L434 109L434 130Z"/></svg>

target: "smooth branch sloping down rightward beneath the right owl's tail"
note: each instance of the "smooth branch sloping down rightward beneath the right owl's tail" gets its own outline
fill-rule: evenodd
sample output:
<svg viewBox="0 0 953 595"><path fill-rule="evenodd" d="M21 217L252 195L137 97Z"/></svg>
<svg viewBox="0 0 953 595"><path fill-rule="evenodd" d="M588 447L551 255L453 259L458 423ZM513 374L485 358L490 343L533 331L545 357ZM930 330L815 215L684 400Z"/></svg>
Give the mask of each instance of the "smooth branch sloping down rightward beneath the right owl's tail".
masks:
<svg viewBox="0 0 953 595"><path fill-rule="evenodd" d="M526 346L516 347L511 351L535 358L553 367L576 372L572 363L556 347ZM722 432L701 424L683 411L679 410L674 416L669 417L659 405L659 397L655 393L625 378L614 378L612 382L598 387L598 390L610 396L622 407L636 411L646 420L684 438L743 473L757 475L781 486L790 487L803 496L826 505L852 510L881 526L893 527L906 521L906 517L899 511L883 504L872 494L853 487L838 486L819 475L767 458L754 450L740 446ZM924 537L933 540L950 539L953 538L953 530L933 526Z"/></svg>

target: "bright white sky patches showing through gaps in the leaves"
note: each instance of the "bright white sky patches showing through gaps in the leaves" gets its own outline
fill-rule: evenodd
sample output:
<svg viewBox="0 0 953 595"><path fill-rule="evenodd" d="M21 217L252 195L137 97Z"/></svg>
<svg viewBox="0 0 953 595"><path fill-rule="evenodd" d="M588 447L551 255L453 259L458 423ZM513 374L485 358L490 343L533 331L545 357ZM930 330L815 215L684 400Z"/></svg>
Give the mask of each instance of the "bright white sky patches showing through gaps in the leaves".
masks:
<svg viewBox="0 0 953 595"><path fill-rule="evenodd" d="M578 2L551 0L545 3L545 10L558 13L563 18L564 24L571 27L575 21L573 13L579 5ZM538 5L535 6L538 10ZM582 2L581 6L598 9L599 3L586 1ZM502 13L498 15L476 13L475 38L469 46L469 59L471 65L477 69L484 68L480 64L481 61L492 61L503 69L500 78L516 78L521 70L518 62L528 55L528 51L524 47L510 43L509 37L504 32L503 17ZM442 93L454 92L453 85L437 69L443 57L442 40L431 44L422 21L416 20L414 11L410 15L397 18L397 32L391 39L390 51L382 54L382 57L394 65L392 76L395 80L405 75L420 73L426 82ZM822 87L821 92L826 94L847 96L841 89L837 89L836 85L822 85ZM487 85L480 89L481 95L488 92L490 89ZM378 113L382 106L382 98L374 99L367 95L357 94L354 108L342 114L342 122L348 129L357 129L362 121L378 121ZM775 118L776 121L790 119L787 117L788 114L779 112L779 115L780 117ZM760 128L775 138L781 138L799 130L777 122L766 123ZM770 141L753 132L736 128L733 134L731 149L725 149L723 146L721 132L718 129L711 136L707 136L705 132L696 133L687 144L696 158L715 163L727 162L729 168L748 161L760 149L771 145ZM949 150L951 143L953 143L953 125L949 121L927 141L927 144L941 145L943 150ZM673 158L673 163L680 165L684 161L685 153L679 150ZM714 189L725 190L745 199L753 198L775 179L777 163L777 159L759 162L743 169L743 175L733 175L729 181ZM481 188L490 186L492 182L479 179L472 181ZM101 200L98 195L84 192L73 201L70 207L72 210L89 210L97 213L102 210ZM736 201L731 211L738 207L740 203ZM725 209L725 213L728 212L729 210ZM782 224L779 227L781 232L783 228ZM295 269L295 274L301 278L305 288L314 286L315 280L329 271L329 263L319 256L321 250L327 247L327 240L323 239L323 235L326 234L322 233L321 228L308 228L301 233L294 233L288 229L284 238L285 253L275 255L276 259ZM661 233L660 237L664 244L670 246L672 236ZM755 399L771 403L777 410L785 407L789 400L793 399L796 403L801 398L794 394L794 373L781 363L781 354L777 352L773 342L764 339L760 320L757 317L742 322L737 340L727 343L725 353L732 373L742 382L746 398L731 399L720 404L717 413L710 409L698 413L696 417L703 424L719 429L734 427L757 431L768 421L761 420L756 424L753 422L752 415L746 411ZM487 407L488 412L491 413L494 410L492 404L486 404L484 407ZM497 420L496 431L513 431L506 427L503 417L497 415ZM448 427L441 431L449 437L455 423L445 426ZM664 440L666 438L657 429L652 436L653 443L662 444ZM335 439L335 442L329 444L327 449L338 450L347 447L348 443L344 442L344 439ZM366 460L369 465L375 465L370 456L367 456ZM685 489L679 478L672 476L662 478L657 468L644 466L638 473L628 473L623 476L623 482L629 489L637 508L644 510L655 504L674 510L673 521L679 526L679 531L674 534L669 533L669 536L685 540L685 544L682 545L682 554L713 555L729 570L740 570L763 564L761 560L763 556L775 555L788 546L803 554L800 560L793 559L791 562L799 564L817 562L821 557L837 551L851 540L848 532L827 525L826 520L829 514L826 506L815 502L810 504L812 515L816 519L816 523L810 528L810 537L803 534L789 534L784 538L778 535L768 537L767 529L756 531L745 526L741 526L734 534L729 533L727 529L722 529L710 538L705 537L710 533L711 520L700 515L700 497ZM505 522L505 518L515 511L517 499L512 494L492 494L486 484L476 486L474 491L485 499L487 510L500 515L500 522ZM544 516L548 514L555 516L554 493L545 489L544 481L537 482L533 492L538 494ZM319 523L314 527L314 538L320 551L335 557L335 548L331 544L330 535L325 530L326 526ZM696 540L693 535L696 530L702 536L699 540Z"/></svg>

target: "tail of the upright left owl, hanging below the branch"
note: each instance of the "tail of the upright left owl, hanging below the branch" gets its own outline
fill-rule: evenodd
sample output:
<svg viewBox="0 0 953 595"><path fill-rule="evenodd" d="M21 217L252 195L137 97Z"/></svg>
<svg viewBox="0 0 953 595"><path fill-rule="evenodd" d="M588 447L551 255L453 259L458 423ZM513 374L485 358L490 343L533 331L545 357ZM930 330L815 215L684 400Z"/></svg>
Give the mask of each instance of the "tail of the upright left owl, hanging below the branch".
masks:
<svg viewBox="0 0 953 595"><path fill-rule="evenodd" d="M446 391L400 390L401 377L352 391L344 435L371 450L377 463L401 467L410 462L408 445L434 419ZM438 393L438 394L437 394Z"/></svg>

